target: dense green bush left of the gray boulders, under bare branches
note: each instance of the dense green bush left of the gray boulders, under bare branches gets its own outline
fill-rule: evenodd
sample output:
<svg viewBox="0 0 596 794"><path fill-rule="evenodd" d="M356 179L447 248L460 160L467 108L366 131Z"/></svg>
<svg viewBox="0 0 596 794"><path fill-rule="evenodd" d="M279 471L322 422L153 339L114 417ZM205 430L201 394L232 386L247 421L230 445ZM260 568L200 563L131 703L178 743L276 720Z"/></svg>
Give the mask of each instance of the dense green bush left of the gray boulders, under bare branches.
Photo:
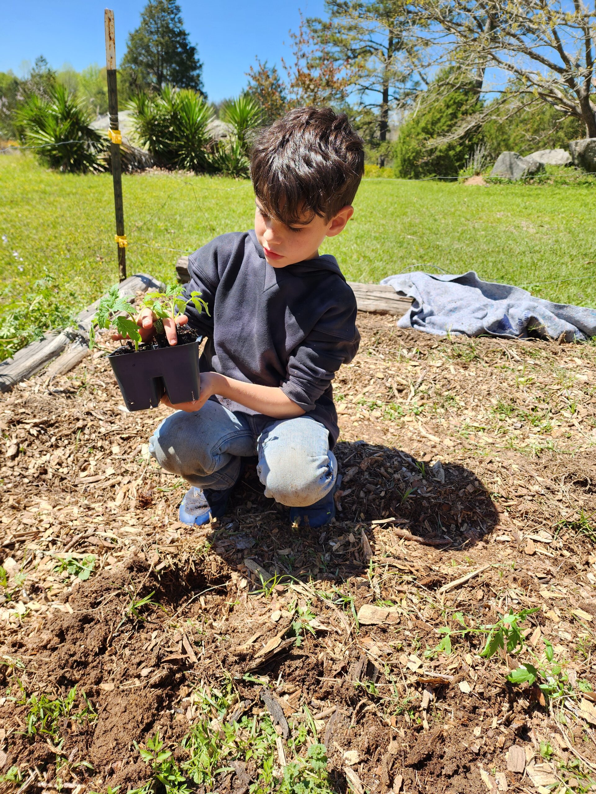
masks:
<svg viewBox="0 0 596 794"><path fill-rule="evenodd" d="M428 89L426 108L413 114L401 127L393 148L393 172L401 179L424 179L429 176L457 176L480 139L478 129L443 144L435 138L446 136L465 116L480 110L478 94L470 85L462 84L451 72L457 85L448 93L439 90L450 76L441 71Z"/></svg>

